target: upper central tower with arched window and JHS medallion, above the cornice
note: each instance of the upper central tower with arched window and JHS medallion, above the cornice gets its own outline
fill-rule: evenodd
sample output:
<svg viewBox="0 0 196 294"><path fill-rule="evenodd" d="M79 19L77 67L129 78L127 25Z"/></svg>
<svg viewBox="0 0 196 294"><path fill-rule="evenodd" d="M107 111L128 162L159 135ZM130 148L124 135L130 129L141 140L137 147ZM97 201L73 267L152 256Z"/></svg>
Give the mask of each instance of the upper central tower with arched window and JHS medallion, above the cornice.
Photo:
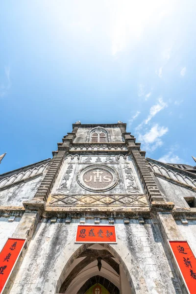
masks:
<svg viewBox="0 0 196 294"><path fill-rule="evenodd" d="M47 199L48 208L61 207L69 215L70 210L85 213L87 209L95 217L105 211L111 215L122 213L122 209L126 214L130 207L133 211L140 207L149 211L142 184L148 173L144 152L140 144L135 144L134 137L126 133L125 123L77 122L53 154L53 164L60 154L64 162ZM150 190L147 192L150 200L161 200L154 186L152 195Z"/></svg>

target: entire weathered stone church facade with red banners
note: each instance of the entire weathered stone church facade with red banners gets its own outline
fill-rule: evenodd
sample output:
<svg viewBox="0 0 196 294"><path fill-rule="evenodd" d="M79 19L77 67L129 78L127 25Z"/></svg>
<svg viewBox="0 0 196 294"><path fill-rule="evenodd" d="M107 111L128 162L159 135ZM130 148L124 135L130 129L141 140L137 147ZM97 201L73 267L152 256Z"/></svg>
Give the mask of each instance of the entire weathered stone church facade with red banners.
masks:
<svg viewBox="0 0 196 294"><path fill-rule="evenodd" d="M62 141L0 175L0 293L196 293L196 169L146 158L120 121Z"/></svg>

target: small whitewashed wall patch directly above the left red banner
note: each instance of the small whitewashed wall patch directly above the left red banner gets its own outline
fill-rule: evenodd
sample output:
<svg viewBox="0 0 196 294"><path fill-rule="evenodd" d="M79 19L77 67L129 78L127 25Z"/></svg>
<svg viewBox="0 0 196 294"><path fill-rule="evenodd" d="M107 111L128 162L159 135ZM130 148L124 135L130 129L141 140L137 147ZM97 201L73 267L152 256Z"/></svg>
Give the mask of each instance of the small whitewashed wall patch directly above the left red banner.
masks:
<svg viewBox="0 0 196 294"><path fill-rule="evenodd" d="M9 218L0 217L0 251L7 241L7 238L11 237L15 231L21 218L16 218L14 221L8 221Z"/></svg>

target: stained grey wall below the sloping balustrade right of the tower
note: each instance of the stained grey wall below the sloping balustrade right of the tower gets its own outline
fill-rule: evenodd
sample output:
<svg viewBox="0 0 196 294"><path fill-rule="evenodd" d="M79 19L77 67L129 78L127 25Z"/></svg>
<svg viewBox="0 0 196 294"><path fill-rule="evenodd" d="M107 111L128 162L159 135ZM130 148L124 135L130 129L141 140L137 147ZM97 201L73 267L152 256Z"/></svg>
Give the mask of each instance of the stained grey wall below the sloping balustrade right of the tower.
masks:
<svg viewBox="0 0 196 294"><path fill-rule="evenodd" d="M154 176L154 179L164 199L174 202L176 208L189 207L184 197L196 197L196 193L190 189L175 185L159 177Z"/></svg>

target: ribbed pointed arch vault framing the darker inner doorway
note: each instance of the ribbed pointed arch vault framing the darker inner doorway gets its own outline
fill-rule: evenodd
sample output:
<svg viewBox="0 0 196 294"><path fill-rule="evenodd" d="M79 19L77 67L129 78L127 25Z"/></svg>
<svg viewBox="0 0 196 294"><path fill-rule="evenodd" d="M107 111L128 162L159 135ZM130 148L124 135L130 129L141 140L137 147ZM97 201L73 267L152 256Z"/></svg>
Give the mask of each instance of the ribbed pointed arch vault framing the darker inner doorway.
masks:
<svg viewBox="0 0 196 294"><path fill-rule="evenodd" d="M98 271L97 258L101 257L102 267ZM126 292L134 294L133 282L122 258L108 244L83 244L70 257L58 279L55 293L79 293L82 286L92 277L99 275L109 280L120 291L123 276ZM91 285L92 286L92 285ZM132 289L132 290L131 290Z"/></svg>

